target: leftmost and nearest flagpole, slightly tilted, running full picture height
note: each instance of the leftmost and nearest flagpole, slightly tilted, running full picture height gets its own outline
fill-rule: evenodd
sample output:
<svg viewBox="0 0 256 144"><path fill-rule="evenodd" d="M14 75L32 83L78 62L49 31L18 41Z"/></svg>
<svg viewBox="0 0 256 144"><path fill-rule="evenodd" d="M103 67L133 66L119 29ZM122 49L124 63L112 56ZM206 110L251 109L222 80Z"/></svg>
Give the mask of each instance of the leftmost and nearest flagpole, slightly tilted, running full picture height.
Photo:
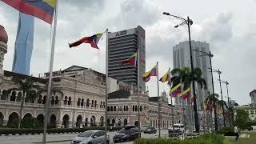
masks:
<svg viewBox="0 0 256 144"><path fill-rule="evenodd" d="M57 16L58 16L58 0L56 0L55 14L54 14L54 32L51 41L51 52L50 52L50 71L49 71L49 81L48 81L48 89L46 96L46 111L44 118L44 126L43 126L43 134L42 134L42 144L46 143L46 130L48 124L49 117L49 109L50 109L50 94L51 94L51 82L52 82L52 72L54 66L54 48L55 48L55 37L56 37L56 28L57 28Z"/></svg>

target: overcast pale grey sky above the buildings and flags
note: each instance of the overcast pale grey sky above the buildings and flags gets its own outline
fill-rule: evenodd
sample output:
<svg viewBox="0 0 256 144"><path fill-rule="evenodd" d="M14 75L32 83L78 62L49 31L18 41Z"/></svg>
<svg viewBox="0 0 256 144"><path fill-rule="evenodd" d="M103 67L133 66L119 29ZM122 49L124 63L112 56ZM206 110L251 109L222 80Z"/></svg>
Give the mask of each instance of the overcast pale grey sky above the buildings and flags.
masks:
<svg viewBox="0 0 256 144"><path fill-rule="evenodd" d="M256 88L256 0L59 0L54 70L68 66L86 66L104 72L104 42L101 50L82 44L73 50L68 42L82 36L142 26L146 30L146 70L159 62L162 75L173 67L172 47L188 40L187 27L163 11L182 17L190 16L191 39L210 43L213 67L222 70L222 79L230 82L230 97L239 104L250 102L250 91ZM18 11L0 2L0 25L9 35L4 69L11 70ZM100 57L98 58L98 55ZM34 51L30 72L37 75L49 70L50 25L36 18ZM99 62L98 62L99 61ZM100 63L100 65L98 65ZM214 74L215 92L219 93L218 75ZM147 85L150 96L156 95L156 80ZM160 90L167 86L160 84ZM222 86L226 96L226 86ZM225 98L226 99L226 98Z"/></svg>

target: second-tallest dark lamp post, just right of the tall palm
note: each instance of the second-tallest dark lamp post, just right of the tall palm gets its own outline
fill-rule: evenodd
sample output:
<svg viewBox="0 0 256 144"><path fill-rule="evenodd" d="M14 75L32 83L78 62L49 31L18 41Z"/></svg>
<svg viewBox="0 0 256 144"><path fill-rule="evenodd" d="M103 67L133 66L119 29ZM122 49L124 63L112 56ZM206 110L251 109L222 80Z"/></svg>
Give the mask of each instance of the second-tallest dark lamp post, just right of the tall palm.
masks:
<svg viewBox="0 0 256 144"><path fill-rule="evenodd" d="M201 51L201 50L194 50L194 51L197 51L197 52L202 53L202 54L206 54L206 56L208 56L210 58L211 85L212 85L212 88L213 88L213 94L215 96L213 66L211 64L211 58L214 57L214 54L211 54L211 52L207 53L206 51ZM216 111L216 102L214 102L214 126L215 126L215 131L217 131L218 130L218 119L217 119L217 111Z"/></svg>

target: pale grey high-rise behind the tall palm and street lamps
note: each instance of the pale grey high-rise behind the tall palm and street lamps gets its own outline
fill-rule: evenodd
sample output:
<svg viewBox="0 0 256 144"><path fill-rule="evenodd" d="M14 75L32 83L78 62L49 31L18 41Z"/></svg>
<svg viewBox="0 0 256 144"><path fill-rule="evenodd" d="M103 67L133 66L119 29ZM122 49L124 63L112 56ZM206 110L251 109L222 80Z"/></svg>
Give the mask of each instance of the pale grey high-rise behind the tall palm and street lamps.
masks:
<svg viewBox="0 0 256 144"><path fill-rule="evenodd" d="M192 46L192 58L193 58L193 65L194 68L200 68L202 70L202 78L206 80L207 89L212 92L212 85L211 85L211 74L210 74L210 58L206 54L199 53L195 50L204 51L206 53L210 52L209 43L206 42L195 42L191 41ZM174 46L173 48L173 55L174 55L174 68L182 68L182 67L190 67L190 43L180 42L178 45ZM206 90L201 86L198 86L198 83L195 82L195 92L197 94L197 102L198 108L201 107L202 99L206 97L208 94ZM182 99L176 98L176 104L181 105Z"/></svg>

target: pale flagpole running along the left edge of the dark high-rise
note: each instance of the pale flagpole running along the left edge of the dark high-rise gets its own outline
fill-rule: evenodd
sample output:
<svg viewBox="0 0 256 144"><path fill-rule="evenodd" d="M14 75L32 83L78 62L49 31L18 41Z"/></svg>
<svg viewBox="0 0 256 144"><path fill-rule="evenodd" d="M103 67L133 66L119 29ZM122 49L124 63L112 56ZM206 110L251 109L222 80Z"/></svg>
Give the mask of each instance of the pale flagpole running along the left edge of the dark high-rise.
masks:
<svg viewBox="0 0 256 144"><path fill-rule="evenodd" d="M108 98L108 65L109 65L109 30L106 29L106 97L105 97L105 143L107 143L106 137L107 137L107 98Z"/></svg>

